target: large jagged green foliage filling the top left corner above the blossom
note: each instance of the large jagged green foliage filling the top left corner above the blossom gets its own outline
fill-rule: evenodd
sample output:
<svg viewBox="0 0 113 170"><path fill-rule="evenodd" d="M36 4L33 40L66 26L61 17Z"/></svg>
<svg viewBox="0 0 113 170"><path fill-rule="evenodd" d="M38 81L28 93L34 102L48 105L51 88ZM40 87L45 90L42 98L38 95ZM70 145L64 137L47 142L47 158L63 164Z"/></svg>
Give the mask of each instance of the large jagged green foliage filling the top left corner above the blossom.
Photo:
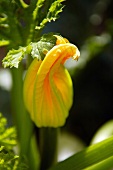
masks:
<svg viewBox="0 0 113 170"><path fill-rule="evenodd" d="M64 0L0 1L0 46L9 49L37 41L48 22L55 21L62 12Z"/></svg>

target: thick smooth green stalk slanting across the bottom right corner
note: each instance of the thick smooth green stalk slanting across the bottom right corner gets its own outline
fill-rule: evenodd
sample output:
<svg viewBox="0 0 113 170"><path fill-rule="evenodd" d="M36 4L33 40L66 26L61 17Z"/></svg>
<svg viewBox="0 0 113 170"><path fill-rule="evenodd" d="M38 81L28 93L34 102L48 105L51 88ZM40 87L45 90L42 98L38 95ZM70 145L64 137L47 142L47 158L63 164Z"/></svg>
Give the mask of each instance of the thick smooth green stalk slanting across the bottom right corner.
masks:
<svg viewBox="0 0 113 170"><path fill-rule="evenodd" d="M106 170L110 168L113 168L113 136L83 149L50 170Z"/></svg>

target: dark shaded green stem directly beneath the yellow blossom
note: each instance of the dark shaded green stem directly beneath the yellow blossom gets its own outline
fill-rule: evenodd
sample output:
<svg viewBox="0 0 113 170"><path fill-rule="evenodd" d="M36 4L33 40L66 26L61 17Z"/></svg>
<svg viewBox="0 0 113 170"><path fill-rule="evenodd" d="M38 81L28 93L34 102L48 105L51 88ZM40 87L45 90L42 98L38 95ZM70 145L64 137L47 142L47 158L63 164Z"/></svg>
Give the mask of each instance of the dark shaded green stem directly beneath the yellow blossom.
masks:
<svg viewBox="0 0 113 170"><path fill-rule="evenodd" d="M40 129L40 170L46 170L56 162L58 131L57 128Z"/></svg>

